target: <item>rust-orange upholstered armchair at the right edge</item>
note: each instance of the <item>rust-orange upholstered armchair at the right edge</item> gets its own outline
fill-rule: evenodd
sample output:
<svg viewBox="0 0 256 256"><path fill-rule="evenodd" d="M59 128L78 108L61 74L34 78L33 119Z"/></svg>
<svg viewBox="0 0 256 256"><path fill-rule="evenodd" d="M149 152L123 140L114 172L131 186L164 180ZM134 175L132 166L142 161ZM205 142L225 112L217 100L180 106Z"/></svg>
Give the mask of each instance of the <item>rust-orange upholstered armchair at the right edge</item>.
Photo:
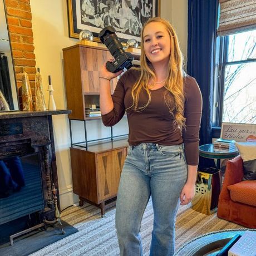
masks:
<svg viewBox="0 0 256 256"><path fill-rule="evenodd" d="M243 160L227 161L217 215L248 228L256 228L256 180L243 181Z"/></svg>

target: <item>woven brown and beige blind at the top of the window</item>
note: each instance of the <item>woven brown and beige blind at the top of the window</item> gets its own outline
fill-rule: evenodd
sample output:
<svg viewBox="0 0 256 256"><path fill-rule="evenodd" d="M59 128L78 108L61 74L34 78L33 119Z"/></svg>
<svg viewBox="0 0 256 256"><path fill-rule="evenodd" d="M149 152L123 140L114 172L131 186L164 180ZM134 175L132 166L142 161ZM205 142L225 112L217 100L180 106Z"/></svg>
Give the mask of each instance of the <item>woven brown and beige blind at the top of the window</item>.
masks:
<svg viewBox="0 0 256 256"><path fill-rule="evenodd" d="M219 0L219 36L256 29L256 0Z"/></svg>

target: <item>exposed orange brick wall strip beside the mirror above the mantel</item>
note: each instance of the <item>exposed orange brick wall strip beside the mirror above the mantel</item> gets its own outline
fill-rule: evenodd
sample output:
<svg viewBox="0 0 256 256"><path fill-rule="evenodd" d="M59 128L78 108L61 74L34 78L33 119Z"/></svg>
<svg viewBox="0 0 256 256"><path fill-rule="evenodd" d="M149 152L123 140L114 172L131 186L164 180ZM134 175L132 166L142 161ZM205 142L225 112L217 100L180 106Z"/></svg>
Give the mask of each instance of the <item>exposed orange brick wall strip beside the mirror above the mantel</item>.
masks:
<svg viewBox="0 0 256 256"><path fill-rule="evenodd" d="M33 101L35 98L36 60L33 45L30 0L5 0L7 20L14 68L19 95L19 107L22 110L21 75L28 73Z"/></svg>

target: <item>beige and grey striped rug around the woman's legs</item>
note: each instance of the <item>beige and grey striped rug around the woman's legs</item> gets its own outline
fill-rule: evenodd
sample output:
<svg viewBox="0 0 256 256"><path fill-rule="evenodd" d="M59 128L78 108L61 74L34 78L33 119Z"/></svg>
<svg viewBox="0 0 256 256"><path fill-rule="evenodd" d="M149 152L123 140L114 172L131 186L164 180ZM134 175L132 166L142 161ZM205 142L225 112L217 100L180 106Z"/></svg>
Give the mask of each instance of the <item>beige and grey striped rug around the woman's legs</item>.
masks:
<svg viewBox="0 0 256 256"><path fill-rule="evenodd" d="M119 255L115 233L115 208L107 210L105 217L101 218L100 209L95 206L72 206L62 212L61 218L79 231L31 255ZM149 255L152 224L152 202L149 201L141 227L144 255ZM205 215L192 210L190 205L180 206L176 219L176 249L201 234L238 228L243 227L219 219L216 214Z"/></svg>

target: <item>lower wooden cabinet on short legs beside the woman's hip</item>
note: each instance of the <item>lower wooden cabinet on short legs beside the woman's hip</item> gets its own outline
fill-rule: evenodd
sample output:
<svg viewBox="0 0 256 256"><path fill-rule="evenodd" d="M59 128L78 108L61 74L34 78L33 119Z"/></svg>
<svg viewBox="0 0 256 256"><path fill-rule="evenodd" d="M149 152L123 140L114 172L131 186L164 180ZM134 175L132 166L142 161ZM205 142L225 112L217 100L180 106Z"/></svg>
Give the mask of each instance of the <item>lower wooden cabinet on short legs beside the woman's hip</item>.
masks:
<svg viewBox="0 0 256 256"><path fill-rule="evenodd" d="M71 147L73 191L80 206L87 201L105 214L105 202L117 195L127 146L127 140L116 140L88 146L88 150Z"/></svg>

